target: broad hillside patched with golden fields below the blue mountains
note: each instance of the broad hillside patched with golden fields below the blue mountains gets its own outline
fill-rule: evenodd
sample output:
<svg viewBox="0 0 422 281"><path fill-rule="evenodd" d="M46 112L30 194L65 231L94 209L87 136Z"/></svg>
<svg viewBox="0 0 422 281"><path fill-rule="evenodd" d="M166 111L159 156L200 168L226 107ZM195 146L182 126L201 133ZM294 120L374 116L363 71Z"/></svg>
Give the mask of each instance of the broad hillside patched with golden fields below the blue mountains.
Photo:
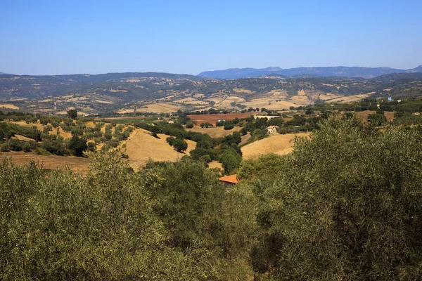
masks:
<svg viewBox="0 0 422 281"><path fill-rule="evenodd" d="M212 108L239 111L250 107L288 110L369 96L418 96L422 89L420 72L364 79L307 74L292 78L276 74L278 71L281 70L271 69L272 74L265 77L224 80L153 72L56 76L6 74L0 77L0 110L65 114L76 108L81 115L170 114L177 110L192 112ZM54 110L55 104L57 110Z"/></svg>

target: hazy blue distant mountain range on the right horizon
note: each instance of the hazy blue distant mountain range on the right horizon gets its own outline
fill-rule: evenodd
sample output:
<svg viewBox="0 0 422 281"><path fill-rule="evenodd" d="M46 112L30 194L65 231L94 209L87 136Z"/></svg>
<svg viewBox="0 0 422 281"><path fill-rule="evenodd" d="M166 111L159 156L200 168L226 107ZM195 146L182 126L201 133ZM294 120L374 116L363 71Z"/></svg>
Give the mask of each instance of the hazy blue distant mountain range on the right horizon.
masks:
<svg viewBox="0 0 422 281"><path fill-rule="evenodd" d="M210 77L217 79L238 79L248 77L262 77L279 75L285 77L364 77L373 78L392 73L414 73L422 72L422 65L410 70L398 70L390 67L295 67L283 69L280 67L267 68L231 68L229 70L205 71L198 74L199 77Z"/></svg>

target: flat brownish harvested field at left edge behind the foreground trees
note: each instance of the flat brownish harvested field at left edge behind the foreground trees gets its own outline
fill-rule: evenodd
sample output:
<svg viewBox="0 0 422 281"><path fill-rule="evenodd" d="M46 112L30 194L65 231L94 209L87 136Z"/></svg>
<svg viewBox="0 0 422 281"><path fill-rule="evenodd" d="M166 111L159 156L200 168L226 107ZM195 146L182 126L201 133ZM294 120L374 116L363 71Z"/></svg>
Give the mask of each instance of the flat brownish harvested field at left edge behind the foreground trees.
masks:
<svg viewBox="0 0 422 281"><path fill-rule="evenodd" d="M13 164L25 165L30 161L42 165L44 169L66 169L67 167L72 171L87 172L89 165L89 158L74 157L74 156L57 156L57 155L37 155L34 152L1 152L0 161L10 158Z"/></svg>

